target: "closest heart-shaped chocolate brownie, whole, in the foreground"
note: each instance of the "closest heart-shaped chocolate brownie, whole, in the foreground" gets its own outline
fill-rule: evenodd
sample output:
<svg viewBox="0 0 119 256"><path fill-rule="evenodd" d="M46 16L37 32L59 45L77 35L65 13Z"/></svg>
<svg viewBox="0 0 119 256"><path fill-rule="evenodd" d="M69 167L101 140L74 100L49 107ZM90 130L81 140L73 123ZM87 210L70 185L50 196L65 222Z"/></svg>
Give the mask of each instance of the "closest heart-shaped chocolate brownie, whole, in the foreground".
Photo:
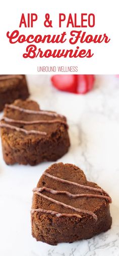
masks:
<svg viewBox="0 0 119 256"><path fill-rule="evenodd" d="M75 165L51 165L33 192L32 235L37 241L56 245L110 229L111 198Z"/></svg>

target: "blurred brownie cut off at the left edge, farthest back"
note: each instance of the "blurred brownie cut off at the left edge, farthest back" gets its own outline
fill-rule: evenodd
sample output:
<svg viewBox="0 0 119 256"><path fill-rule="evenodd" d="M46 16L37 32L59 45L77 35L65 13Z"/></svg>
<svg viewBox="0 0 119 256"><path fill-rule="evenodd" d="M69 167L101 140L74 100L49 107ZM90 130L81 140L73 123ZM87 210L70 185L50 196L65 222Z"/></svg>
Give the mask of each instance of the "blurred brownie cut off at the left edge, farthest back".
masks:
<svg viewBox="0 0 119 256"><path fill-rule="evenodd" d="M29 96L25 75L0 75L0 111L6 103Z"/></svg>

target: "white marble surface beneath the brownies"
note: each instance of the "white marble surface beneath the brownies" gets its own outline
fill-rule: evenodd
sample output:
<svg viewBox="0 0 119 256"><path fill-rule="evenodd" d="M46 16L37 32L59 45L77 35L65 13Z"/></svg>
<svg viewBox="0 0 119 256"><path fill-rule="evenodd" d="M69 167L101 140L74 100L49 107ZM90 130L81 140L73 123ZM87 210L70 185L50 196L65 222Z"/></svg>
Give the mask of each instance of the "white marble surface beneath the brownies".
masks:
<svg viewBox="0 0 119 256"><path fill-rule="evenodd" d="M64 114L70 126L71 148L64 163L80 166L89 180L112 197L112 227L89 240L50 246L31 236L32 189L51 163L7 166L0 148L0 255L101 256L119 255L119 79L97 76L86 95L55 90L48 76L28 76L31 98L41 108ZM1 147L1 146L0 146Z"/></svg>

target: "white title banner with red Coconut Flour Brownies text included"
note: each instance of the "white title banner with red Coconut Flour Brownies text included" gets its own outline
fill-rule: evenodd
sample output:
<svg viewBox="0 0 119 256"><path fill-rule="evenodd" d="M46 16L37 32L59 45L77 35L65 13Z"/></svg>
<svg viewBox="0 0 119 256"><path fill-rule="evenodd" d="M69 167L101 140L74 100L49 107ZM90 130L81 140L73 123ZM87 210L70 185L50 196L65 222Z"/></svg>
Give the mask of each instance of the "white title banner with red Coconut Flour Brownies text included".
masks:
<svg viewBox="0 0 119 256"><path fill-rule="evenodd" d="M1 74L119 74L118 1L8 1Z"/></svg>

